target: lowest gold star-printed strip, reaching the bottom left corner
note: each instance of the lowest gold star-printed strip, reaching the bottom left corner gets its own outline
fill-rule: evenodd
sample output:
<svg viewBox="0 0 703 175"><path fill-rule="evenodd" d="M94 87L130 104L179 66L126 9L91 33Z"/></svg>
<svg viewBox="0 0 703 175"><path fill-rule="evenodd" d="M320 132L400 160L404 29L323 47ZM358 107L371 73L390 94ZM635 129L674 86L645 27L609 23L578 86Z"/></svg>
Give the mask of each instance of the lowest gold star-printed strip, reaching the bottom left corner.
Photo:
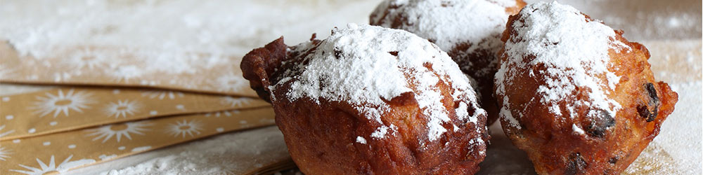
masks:
<svg viewBox="0 0 703 175"><path fill-rule="evenodd" d="M270 107L220 111L0 141L0 174L66 172L214 134L273 125L273 116Z"/></svg>

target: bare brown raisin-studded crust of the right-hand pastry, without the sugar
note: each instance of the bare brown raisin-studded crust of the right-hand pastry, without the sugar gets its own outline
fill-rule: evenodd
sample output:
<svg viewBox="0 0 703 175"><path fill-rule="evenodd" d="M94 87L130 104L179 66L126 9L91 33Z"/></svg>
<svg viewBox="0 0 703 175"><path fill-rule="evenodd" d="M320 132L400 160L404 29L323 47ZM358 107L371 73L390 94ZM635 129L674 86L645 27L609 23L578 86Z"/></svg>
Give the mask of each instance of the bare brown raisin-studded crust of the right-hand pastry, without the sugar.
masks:
<svg viewBox="0 0 703 175"><path fill-rule="evenodd" d="M586 16L587 19L588 16ZM503 41L508 41L517 32L512 24L520 19L513 15L503 33ZM615 41L621 41L631 48L609 50L608 70L620 76L614 92L608 94L621 104L617 116L603 114L601 120L593 118L562 118L549 112L548 106L530 103L544 80L533 77L546 76L546 67L536 66L519 70L513 75L517 82L506 85L508 103L515 109L525 109L522 113L527 118L517 118L520 128L510 125L510 121L501 118L503 130L518 148L526 151L534 163L538 174L619 174L633 162L640 152L659 134L666 117L673 111L678 101L678 94L668 84L656 82L650 64L647 49L639 43L627 41L616 31ZM508 59L501 50L501 62ZM530 57L529 55L527 57ZM535 73L529 76L529 73ZM599 77L605 79L605 77ZM586 90L579 90L574 99L562 99L562 103L574 102L587 98ZM503 97L498 95L498 99ZM502 102L499 102L503 105ZM588 111L588 109L577 109ZM583 115L583 114L581 114ZM574 134L571 125L585 131L585 135Z"/></svg>

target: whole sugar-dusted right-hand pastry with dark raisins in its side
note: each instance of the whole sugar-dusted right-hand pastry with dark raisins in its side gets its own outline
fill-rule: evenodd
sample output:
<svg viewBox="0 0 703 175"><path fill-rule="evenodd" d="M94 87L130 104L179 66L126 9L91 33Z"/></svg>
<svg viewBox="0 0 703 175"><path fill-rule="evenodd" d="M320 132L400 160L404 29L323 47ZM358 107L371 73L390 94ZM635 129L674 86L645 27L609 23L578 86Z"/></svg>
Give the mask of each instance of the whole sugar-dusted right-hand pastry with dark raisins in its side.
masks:
<svg viewBox="0 0 703 175"><path fill-rule="evenodd" d="M647 48L571 6L529 4L502 39L501 124L538 174L619 174L678 101Z"/></svg>

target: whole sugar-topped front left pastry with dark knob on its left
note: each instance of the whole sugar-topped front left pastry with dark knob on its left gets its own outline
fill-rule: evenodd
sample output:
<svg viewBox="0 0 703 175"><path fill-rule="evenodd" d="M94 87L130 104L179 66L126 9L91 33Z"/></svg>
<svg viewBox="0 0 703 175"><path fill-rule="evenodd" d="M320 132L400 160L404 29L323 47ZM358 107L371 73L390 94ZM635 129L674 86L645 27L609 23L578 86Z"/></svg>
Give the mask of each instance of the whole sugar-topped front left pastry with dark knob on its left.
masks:
<svg viewBox="0 0 703 175"><path fill-rule="evenodd" d="M351 24L292 47L279 38L241 65L305 174L472 174L485 157L468 79L415 34Z"/></svg>

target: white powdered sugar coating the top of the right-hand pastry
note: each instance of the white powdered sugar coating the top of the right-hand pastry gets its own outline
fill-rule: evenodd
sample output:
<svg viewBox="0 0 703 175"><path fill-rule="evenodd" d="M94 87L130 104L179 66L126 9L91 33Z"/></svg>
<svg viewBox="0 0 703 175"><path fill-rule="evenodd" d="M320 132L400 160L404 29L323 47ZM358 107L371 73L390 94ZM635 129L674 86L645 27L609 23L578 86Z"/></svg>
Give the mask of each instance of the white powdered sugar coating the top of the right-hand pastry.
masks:
<svg viewBox="0 0 703 175"><path fill-rule="evenodd" d="M496 93L503 95L503 108L511 111L507 105L508 97L504 94L505 85L512 83L512 77L506 74L517 73L517 69L508 67L544 65L546 70L540 73L546 76L539 78L544 78L546 85L540 85L537 93L542 96L541 103L549 106L550 113L574 118L578 117L577 107L591 106L616 116L621 106L607 94L615 89L619 76L607 69L610 60L608 50L629 48L613 40L613 29L599 21L587 20L575 8L557 2L530 4L520 11L520 15L521 18L512 25L517 34L505 43L508 60L501 64L501 69L496 73ZM524 62L526 55L534 56L534 59ZM534 76L532 73L529 76ZM605 76L605 79L598 76ZM604 84L607 86L604 87ZM577 88L590 90L588 99L562 106L557 104L576 95ZM502 112L501 117L512 118ZM591 110L586 117L598 117L598 111Z"/></svg>

